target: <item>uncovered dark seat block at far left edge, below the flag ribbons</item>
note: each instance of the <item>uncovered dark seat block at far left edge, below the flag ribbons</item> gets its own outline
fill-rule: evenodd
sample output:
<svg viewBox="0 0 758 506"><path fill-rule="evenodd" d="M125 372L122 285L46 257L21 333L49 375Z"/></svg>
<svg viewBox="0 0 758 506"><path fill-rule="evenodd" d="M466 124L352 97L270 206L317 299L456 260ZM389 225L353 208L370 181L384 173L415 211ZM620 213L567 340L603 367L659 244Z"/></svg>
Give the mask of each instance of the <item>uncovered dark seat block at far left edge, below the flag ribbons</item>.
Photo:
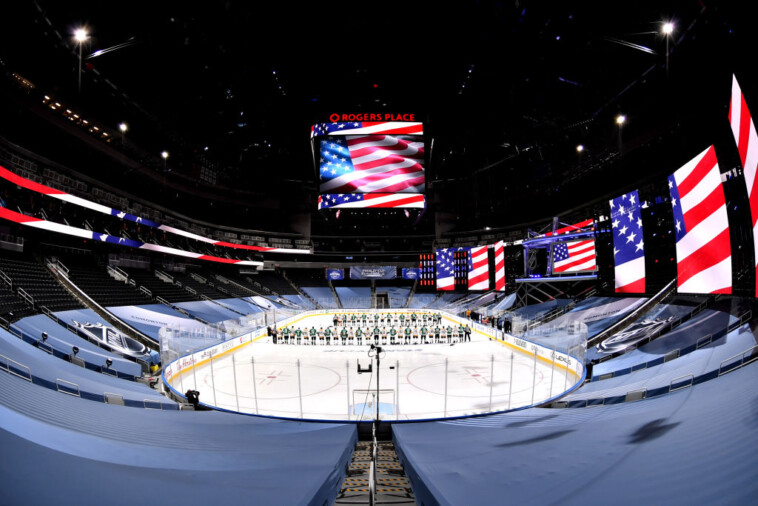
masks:
<svg viewBox="0 0 758 506"><path fill-rule="evenodd" d="M50 311L82 307L42 264L34 260L4 253L0 256L0 270L13 280L14 288L22 288L31 295L37 307L46 307Z"/></svg>

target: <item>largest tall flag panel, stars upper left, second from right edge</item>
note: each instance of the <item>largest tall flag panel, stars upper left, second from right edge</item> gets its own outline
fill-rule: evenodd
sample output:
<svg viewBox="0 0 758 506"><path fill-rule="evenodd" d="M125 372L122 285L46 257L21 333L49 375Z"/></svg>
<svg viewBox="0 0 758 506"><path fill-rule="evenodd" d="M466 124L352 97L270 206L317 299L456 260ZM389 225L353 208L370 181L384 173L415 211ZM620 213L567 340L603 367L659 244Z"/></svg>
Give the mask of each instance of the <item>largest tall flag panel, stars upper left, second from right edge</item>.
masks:
<svg viewBox="0 0 758 506"><path fill-rule="evenodd" d="M732 250L716 150L669 176L681 293L732 293Z"/></svg>

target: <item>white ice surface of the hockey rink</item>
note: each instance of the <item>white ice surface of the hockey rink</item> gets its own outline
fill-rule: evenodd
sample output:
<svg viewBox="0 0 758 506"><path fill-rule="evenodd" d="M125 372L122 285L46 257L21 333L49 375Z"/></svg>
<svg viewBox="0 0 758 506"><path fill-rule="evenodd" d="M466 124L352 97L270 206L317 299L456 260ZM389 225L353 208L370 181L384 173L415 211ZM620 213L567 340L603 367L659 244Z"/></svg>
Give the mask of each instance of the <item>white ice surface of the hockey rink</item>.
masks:
<svg viewBox="0 0 758 506"><path fill-rule="evenodd" d="M331 318L332 315L308 316L294 326L304 330L312 326L326 328L332 325ZM444 318L443 322L445 327L453 325ZM362 346L343 346L341 339L339 344L332 339L329 346L286 345L273 344L271 338L264 337L214 360L212 367L207 364L194 373L185 373L173 383L181 391L196 383L201 402L231 411L370 421L376 416L377 370L366 343L364 339ZM380 346L384 349L379 371L379 413L383 420L514 409L556 397L578 381L560 365L553 368L551 363L535 361L534 356L515 351L476 330L470 342L453 345ZM373 363L373 373L359 374L358 363L363 368Z"/></svg>

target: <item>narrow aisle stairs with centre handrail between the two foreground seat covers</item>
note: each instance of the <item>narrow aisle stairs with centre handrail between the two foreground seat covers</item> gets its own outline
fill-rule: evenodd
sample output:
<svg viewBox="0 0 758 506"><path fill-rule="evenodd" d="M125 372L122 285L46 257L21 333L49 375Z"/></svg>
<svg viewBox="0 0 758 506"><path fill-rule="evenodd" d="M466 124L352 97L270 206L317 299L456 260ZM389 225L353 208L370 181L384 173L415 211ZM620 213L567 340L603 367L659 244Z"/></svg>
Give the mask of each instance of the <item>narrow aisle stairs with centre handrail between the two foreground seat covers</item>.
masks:
<svg viewBox="0 0 758 506"><path fill-rule="evenodd" d="M392 441L376 443L375 483L370 484L372 441L359 441L335 504L416 504L410 482L397 458ZM374 489L373 501L370 497Z"/></svg>

